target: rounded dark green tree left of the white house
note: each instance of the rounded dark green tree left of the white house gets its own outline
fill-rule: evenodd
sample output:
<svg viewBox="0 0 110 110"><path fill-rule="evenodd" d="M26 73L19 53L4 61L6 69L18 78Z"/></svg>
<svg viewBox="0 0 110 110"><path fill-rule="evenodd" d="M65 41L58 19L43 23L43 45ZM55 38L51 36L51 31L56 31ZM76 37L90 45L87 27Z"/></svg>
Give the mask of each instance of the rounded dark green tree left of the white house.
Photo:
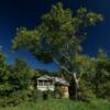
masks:
<svg viewBox="0 0 110 110"><path fill-rule="evenodd" d="M25 89L30 86L33 73L23 59L16 59L13 66L11 81L19 89Z"/></svg>

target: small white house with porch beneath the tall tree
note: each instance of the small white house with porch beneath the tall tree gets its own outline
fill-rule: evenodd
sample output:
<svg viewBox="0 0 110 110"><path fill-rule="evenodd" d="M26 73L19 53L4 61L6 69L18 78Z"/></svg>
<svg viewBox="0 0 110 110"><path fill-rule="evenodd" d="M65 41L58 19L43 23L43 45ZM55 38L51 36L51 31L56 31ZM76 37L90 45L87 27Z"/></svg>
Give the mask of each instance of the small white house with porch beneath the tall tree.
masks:
<svg viewBox="0 0 110 110"><path fill-rule="evenodd" d="M64 97L69 98L69 84L65 78L51 77L47 75L41 76L36 80L37 90L55 90L55 87L62 88L64 90Z"/></svg>

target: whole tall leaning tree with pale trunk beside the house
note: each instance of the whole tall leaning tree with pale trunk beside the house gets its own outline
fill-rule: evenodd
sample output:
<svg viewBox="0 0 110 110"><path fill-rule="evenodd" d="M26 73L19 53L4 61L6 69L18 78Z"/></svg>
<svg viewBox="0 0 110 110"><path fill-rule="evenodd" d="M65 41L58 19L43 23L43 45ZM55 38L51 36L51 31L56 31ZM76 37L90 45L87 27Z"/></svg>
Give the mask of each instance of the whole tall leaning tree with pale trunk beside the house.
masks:
<svg viewBox="0 0 110 110"><path fill-rule="evenodd" d="M77 98L78 73L75 56L81 52L81 42L86 37L85 30L100 21L102 15L99 13L86 8L73 12L58 2L42 16L42 23L34 30L18 29L13 48L26 48L37 59L44 63L55 62L62 69L72 74Z"/></svg>

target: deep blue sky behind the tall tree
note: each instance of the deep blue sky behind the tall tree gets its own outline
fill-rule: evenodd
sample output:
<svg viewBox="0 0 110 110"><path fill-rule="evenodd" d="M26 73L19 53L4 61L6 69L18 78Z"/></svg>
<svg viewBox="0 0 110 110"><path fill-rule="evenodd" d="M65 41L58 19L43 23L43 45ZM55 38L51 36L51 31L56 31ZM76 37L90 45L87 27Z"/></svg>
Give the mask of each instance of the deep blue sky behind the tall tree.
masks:
<svg viewBox="0 0 110 110"><path fill-rule="evenodd" d="M48 2L46 2L48 1ZM30 53L18 51L11 53L11 43L18 26L34 29L41 22L41 15L47 12L52 4L61 0L0 0L0 45L9 56L8 64L15 57L23 57L33 68L55 70L57 66L52 63L44 65L35 61ZM78 9L80 0L62 0L65 8L73 11ZM102 13L105 21L97 26L89 28L88 37L82 44L84 54L95 56L98 48L103 48L110 56L110 0L82 0L82 6L89 10Z"/></svg>

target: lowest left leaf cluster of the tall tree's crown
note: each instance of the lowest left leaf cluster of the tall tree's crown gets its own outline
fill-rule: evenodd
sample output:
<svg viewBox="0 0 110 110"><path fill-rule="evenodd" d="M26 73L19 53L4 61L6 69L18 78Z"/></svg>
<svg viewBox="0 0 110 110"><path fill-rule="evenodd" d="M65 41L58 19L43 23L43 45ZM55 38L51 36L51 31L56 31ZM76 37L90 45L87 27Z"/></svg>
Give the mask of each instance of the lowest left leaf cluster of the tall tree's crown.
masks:
<svg viewBox="0 0 110 110"><path fill-rule="evenodd" d="M25 28L16 30L16 37L13 40L13 50L26 48L29 51L35 50L40 40L40 32L37 30L29 31Z"/></svg>

